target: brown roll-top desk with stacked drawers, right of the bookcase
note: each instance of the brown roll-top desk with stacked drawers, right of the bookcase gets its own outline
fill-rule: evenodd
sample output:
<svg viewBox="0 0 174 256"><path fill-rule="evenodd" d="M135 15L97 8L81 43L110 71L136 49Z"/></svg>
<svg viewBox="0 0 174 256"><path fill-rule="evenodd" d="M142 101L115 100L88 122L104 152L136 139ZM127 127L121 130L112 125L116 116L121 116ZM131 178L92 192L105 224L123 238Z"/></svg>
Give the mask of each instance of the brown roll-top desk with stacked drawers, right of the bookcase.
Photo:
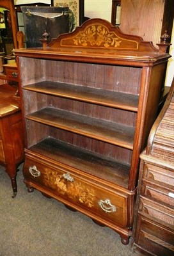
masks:
<svg viewBox="0 0 174 256"><path fill-rule="evenodd" d="M141 154L134 250L174 254L174 79Z"/></svg>

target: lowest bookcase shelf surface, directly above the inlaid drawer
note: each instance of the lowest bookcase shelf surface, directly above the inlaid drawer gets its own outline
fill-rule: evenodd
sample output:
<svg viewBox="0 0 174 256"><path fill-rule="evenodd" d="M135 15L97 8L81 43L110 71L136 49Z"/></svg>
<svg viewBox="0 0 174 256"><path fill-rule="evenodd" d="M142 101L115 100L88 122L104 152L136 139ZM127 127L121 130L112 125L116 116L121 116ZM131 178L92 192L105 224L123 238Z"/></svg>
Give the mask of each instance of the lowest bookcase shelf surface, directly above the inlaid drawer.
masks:
<svg viewBox="0 0 174 256"><path fill-rule="evenodd" d="M59 161L71 167L100 177L120 187L127 188L129 182L129 164L116 162L114 159L100 156L83 148L75 147L69 143L47 138L28 148L26 152L33 152L47 157L48 161Z"/></svg>

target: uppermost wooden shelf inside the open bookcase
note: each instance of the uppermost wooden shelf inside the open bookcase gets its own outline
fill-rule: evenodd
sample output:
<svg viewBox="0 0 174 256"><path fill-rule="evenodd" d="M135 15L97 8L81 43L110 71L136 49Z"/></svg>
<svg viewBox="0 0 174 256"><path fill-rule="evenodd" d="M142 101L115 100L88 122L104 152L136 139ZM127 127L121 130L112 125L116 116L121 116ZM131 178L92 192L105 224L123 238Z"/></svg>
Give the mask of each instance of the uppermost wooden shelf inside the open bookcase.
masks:
<svg viewBox="0 0 174 256"><path fill-rule="evenodd" d="M126 109L134 112L138 111L138 95L129 93L100 90L86 86L56 83L52 81L29 84L28 86L24 86L24 89L65 97L67 99L82 100L84 102L100 104L112 108Z"/></svg>

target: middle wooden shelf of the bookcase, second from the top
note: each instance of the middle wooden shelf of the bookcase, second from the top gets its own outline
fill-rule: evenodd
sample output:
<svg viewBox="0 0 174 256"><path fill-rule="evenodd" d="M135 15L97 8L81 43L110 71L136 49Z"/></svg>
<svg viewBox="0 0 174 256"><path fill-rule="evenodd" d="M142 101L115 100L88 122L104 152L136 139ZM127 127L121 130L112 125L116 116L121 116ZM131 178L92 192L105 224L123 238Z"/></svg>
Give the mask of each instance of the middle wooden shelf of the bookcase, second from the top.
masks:
<svg viewBox="0 0 174 256"><path fill-rule="evenodd" d="M132 127L53 108L44 108L26 117L42 124L75 132L113 145L131 150L133 148L134 128Z"/></svg>

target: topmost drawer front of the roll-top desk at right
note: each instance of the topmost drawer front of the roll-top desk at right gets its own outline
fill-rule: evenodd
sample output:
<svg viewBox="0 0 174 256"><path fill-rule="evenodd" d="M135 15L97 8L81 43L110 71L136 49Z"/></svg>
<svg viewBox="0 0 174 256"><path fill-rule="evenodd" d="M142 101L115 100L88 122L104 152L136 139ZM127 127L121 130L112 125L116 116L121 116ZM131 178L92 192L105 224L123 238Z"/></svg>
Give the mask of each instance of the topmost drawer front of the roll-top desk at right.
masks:
<svg viewBox="0 0 174 256"><path fill-rule="evenodd" d="M152 164L145 164L144 177L174 186L173 170L164 170Z"/></svg>

